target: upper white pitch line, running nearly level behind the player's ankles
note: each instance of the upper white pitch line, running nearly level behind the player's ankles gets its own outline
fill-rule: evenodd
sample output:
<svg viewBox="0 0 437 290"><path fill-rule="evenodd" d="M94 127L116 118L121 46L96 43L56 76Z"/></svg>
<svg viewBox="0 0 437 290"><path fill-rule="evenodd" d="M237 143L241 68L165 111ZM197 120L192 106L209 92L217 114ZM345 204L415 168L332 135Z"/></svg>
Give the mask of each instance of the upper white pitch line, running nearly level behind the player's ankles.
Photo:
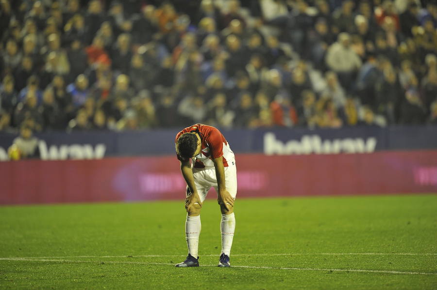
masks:
<svg viewBox="0 0 437 290"><path fill-rule="evenodd" d="M437 253L283 253L283 254L232 254L233 257L248 256L437 256ZM65 258L153 258L153 257L183 257L185 255L121 255L121 256L56 256L56 257L0 257L0 260L7 259L65 259ZM216 257L218 254L201 255L201 257Z"/></svg>

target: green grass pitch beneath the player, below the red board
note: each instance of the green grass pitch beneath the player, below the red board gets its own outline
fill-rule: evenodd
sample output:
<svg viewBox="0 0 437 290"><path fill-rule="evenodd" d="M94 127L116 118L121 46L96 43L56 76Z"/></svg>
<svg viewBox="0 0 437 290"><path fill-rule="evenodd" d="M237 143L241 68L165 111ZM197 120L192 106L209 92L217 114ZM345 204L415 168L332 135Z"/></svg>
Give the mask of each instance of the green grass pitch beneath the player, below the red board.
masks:
<svg viewBox="0 0 437 290"><path fill-rule="evenodd" d="M217 201L199 268L184 202L0 207L0 289L437 289L437 195L237 199L231 268Z"/></svg>

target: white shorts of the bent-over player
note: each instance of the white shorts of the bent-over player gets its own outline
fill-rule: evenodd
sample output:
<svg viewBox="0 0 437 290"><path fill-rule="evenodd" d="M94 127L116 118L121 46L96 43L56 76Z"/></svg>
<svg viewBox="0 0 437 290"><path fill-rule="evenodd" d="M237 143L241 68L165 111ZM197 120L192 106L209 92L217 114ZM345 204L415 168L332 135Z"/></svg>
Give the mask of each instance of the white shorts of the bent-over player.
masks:
<svg viewBox="0 0 437 290"><path fill-rule="evenodd" d="M218 192L216 168L192 168L194 175L194 183L196 184L197 193L201 201L203 202L208 194L208 190L211 187L216 189ZM229 192L231 197L235 199L237 191L236 182L236 166L235 160L228 161L228 167L225 170L225 184L226 190ZM187 195L190 193L188 186L186 187Z"/></svg>

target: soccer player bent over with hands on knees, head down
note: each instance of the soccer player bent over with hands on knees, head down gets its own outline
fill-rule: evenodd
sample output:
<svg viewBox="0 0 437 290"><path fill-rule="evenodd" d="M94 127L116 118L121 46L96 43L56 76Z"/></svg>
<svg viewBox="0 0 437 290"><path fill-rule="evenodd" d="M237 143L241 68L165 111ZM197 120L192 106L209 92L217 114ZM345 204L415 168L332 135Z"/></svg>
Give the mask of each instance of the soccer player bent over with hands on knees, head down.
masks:
<svg viewBox="0 0 437 290"><path fill-rule="evenodd" d="M218 195L221 211L221 255L218 267L230 267L229 255L234 239L236 196L235 155L217 128L194 124L176 135L176 153L186 181L185 237L188 256L176 267L198 267L202 203L211 187ZM193 160L190 164L190 159Z"/></svg>

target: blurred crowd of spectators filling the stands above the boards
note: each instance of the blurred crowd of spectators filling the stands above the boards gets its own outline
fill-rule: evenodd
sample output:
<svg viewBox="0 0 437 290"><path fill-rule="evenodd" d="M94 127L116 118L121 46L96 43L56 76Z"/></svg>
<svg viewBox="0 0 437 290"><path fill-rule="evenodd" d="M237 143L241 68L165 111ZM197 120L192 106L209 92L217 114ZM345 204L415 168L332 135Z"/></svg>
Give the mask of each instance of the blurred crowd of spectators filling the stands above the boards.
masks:
<svg viewBox="0 0 437 290"><path fill-rule="evenodd" d="M437 123L434 1L0 3L0 131Z"/></svg>

